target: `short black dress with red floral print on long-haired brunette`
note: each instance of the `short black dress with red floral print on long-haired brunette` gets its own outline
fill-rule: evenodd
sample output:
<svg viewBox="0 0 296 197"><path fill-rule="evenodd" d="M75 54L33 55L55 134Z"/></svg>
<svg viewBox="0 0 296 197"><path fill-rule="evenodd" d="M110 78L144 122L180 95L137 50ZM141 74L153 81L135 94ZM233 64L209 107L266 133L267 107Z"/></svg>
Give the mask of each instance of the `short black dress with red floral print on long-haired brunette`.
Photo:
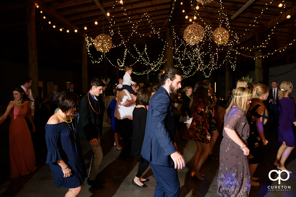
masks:
<svg viewBox="0 0 296 197"><path fill-rule="evenodd" d="M204 101L199 99L199 108L192 113L192 122L188 129L187 139L189 141L199 141L201 143L209 144L210 141L206 139L209 134L209 124L207 113L205 112Z"/></svg>

